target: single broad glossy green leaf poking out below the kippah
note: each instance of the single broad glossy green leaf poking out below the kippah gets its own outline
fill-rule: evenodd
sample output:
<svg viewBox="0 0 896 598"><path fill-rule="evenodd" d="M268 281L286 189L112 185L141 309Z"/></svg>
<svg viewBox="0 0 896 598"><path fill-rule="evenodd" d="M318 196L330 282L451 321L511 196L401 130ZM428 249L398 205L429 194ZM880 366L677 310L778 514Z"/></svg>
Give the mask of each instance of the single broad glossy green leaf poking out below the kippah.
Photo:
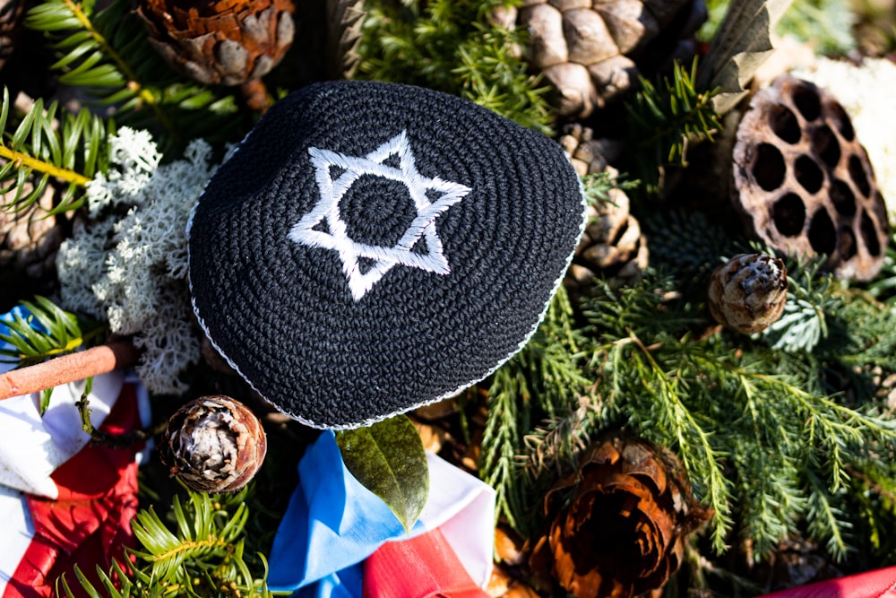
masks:
<svg viewBox="0 0 896 598"><path fill-rule="evenodd" d="M366 428L340 430L336 443L349 472L382 498L410 532L429 494L426 451L414 424L399 415Z"/></svg>

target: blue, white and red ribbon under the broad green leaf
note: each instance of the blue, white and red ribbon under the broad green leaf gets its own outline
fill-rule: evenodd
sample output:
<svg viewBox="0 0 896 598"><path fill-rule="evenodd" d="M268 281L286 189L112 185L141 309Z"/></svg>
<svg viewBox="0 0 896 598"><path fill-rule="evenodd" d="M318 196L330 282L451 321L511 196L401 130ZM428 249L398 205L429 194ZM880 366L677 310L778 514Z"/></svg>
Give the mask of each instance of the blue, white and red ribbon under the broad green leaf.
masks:
<svg viewBox="0 0 896 598"><path fill-rule="evenodd" d="M299 485L269 558L271 590L316 598L486 596L481 588L492 570L495 490L436 455L426 458L429 498L407 533L349 473L335 435L324 431L299 462ZM396 562L408 575L395 575ZM372 590L393 579L401 589Z"/></svg>

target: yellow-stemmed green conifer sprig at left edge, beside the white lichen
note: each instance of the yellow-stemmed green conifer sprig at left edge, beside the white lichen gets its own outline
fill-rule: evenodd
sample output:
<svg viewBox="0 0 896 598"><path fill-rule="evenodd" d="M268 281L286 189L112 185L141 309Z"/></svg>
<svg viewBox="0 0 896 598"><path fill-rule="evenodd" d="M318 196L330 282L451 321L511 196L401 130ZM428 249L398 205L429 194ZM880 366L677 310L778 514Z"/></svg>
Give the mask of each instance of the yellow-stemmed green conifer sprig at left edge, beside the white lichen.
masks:
<svg viewBox="0 0 896 598"><path fill-rule="evenodd" d="M20 211L39 201L51 179L65 191L50 214L81 207L83 187L108 168L109 134L115 124L91 115L59 111L56 101L44 108L42 99L21 119L14 114L9 91L4 88L0 106L0 195L4 210ZM60 114L57 115L57 112ZM30 191L25 183L33 181ZM13 193L11 193L13 192Z"/></svg>

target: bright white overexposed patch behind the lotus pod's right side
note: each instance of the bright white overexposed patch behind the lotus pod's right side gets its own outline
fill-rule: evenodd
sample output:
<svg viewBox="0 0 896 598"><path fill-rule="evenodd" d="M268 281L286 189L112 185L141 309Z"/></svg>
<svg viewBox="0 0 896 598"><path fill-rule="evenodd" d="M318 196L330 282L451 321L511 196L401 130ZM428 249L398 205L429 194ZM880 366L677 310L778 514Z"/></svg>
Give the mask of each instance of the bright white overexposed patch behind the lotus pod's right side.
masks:
<svg viewBox="0 0 896 598"><path fill-rule="evenodd" d="M896 64L884 58L865 58L860 65L819 57L813 68L793 74L823 87L849 114L868 160L892 225L896 225Z"/></svg>

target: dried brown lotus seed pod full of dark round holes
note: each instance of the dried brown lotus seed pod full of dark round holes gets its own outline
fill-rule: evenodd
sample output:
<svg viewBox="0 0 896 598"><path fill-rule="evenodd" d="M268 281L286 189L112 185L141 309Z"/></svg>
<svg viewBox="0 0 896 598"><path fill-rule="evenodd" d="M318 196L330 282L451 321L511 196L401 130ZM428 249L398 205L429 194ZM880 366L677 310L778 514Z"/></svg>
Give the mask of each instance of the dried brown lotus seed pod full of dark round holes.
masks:
<svg viewBox="0 0 896 598"><path fill-rule="evenodd" d="M868 281L889 227L865 148L830 91L781 75L737 126L733 203L751 236L784 254L825 255L826 269Z"/></svg>

